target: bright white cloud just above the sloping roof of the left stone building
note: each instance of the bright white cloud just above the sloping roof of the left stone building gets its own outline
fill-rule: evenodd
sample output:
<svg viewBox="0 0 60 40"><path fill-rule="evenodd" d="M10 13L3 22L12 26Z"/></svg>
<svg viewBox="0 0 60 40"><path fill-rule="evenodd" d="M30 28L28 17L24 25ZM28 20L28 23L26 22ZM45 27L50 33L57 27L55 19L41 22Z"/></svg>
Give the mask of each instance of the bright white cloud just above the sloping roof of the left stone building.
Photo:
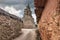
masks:
<svg viewBox="0 0 60 40"><path fill-rule="evenodd" d="M7 11L7 12L9 12L10 14L13 14L13 15L16 15L16 16L19 16L19 17L22 17L22 15L21 15L21 10L17 10L17 9L15 9L13 6L6 6L5 8L3 8L3 7L0 7L0 8L2 8L3 10L5 10L5 11Z"/></svg>

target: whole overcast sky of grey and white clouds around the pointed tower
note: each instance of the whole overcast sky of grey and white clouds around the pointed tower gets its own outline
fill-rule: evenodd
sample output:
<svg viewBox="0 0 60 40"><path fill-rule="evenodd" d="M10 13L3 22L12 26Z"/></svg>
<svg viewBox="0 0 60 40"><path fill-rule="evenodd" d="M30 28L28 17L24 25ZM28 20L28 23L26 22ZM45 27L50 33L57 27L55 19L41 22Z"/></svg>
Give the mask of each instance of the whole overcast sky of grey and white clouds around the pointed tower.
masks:
<svg viewBox="0 0 60 40"><path fill-rule="evenodd" d="M30 4L33 18L36 21L36 16L34 14L34 0L0 0L0 8L11 14L22 17L28 3Z"/></svg>

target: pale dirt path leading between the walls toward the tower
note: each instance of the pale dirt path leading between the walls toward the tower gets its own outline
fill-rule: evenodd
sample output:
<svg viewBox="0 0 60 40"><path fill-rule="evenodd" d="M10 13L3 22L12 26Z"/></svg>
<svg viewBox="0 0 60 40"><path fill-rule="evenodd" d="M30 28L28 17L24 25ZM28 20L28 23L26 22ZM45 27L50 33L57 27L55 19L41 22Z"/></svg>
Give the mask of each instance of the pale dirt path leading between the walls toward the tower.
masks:
<svg viewBox="0 0 60 40"><path fill-rule="evenodd" d="M23 34L14 40L36 40L36 29L22 29Z"/></svg>

